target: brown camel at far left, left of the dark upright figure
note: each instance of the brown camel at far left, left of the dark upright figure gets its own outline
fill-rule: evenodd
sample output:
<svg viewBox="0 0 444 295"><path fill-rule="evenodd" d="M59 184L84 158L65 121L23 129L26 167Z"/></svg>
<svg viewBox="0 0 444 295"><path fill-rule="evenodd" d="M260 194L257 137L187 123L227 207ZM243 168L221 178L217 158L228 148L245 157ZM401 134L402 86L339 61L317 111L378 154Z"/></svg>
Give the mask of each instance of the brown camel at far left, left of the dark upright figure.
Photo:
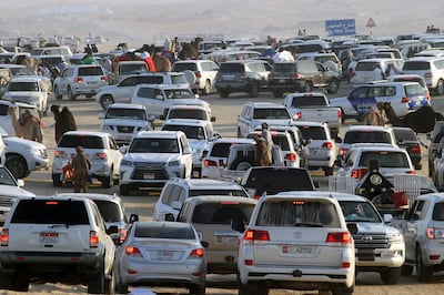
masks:
<svg viewBox="0 0 444 295"><path fill-rule="evenodd" d="M16 108L9 108L8 114L11 116L12 126L17 138L23 138L30 141L42 142L43 133L40 128L40 119L32 115L29 110L26 110L20 118L17 119Z"/></svg>

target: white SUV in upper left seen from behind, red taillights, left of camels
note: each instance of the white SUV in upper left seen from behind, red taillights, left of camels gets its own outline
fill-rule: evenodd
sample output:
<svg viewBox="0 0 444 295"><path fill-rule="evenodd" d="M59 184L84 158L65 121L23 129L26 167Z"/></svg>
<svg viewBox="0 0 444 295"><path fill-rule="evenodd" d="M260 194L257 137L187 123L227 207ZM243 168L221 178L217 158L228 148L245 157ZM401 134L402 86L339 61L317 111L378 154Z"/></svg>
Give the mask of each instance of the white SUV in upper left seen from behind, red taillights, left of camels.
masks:
<svg viewBox="0 0 444 295"><path fill-rule="evenodd" d="M69 100L75 100L78 95L92 98L101 87L108 85L108 77L104 69L97 64L72 64L63 69L53 82L57 100L68 95Z"/></svg>

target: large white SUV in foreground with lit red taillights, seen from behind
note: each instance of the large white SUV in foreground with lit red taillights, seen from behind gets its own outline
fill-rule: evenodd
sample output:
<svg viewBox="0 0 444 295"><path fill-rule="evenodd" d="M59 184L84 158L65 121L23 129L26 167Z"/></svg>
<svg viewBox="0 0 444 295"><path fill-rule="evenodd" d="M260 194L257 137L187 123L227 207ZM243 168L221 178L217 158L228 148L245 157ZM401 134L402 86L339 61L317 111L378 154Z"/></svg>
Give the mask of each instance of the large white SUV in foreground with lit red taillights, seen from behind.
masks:
<svg viewBox="0 0 444 295"><path fill-rule="evenodd" d="M233 221L239 243L239 294L270 288L353 294L355 250L337 201L315 192L259 200L250 224Z"/></svg>

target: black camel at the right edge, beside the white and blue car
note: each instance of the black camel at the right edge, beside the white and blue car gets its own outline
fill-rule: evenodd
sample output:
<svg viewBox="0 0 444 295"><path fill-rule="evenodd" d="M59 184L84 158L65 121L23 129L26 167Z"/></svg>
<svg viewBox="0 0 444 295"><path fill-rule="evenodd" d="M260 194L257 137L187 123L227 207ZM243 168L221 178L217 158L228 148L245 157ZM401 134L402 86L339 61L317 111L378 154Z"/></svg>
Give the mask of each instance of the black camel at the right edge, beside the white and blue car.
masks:
<svg viewBox="0 0 444 295"><path fill-rule="evenodd" d="M433 130L436 121L442 121L443 115L431 105L423 105L403 118L398 118L390 102L380 102L379 108L384 110L389 122L393 126L411 128L416 133L427 133Z"/></svg>

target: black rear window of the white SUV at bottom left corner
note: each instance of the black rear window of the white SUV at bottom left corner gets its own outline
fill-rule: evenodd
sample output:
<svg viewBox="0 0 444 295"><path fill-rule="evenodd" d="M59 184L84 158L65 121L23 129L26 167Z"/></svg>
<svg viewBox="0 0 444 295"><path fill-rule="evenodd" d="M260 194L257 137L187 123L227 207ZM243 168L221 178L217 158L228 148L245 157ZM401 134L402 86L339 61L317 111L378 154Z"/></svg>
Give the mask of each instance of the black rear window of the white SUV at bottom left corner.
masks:
<svg viewBox="0 0 444 295"><path fill-rule="evenodd" d="M63 224L65 226L90 224L82 201L21 200L11 223Z"/></svg>

